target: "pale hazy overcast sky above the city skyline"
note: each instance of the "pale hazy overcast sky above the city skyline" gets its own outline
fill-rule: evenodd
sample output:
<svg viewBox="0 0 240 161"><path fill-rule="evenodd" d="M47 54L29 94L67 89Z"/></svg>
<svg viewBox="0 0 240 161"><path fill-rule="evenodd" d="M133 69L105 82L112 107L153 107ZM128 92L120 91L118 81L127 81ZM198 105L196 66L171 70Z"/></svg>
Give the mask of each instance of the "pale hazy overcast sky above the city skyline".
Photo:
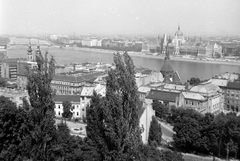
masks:
<svg viewBox="0 0 240 161"><path fill-rule="evenodd" d="M240 34L240 0L0 0L0 34Z"/></svg>

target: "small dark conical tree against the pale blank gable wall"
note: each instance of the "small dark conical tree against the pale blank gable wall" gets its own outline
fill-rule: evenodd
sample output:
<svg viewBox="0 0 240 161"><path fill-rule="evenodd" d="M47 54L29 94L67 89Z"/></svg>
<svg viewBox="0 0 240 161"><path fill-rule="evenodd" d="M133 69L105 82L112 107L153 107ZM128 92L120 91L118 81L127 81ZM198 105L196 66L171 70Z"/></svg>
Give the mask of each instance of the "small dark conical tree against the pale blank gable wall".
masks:
<svg viewBox="0 0 240 161"><path fill-rule="evenodd" d="M149 129L148 144L151 145L153 141L156 141L158 146L161 145L162 141L161 124L158 123L154 116L152 117L152 122Z"/></svg>

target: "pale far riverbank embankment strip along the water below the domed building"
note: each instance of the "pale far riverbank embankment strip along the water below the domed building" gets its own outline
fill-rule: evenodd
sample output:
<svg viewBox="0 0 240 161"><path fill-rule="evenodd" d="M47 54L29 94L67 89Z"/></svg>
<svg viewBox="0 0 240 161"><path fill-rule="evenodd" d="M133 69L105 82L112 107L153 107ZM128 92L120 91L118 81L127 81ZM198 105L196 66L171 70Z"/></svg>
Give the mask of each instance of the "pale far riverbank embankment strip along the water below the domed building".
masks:
<svg viewBox="0 0 240 161"><path fill-rule="evenodd" d="M79 50L79 51L86 51L86 52L98 52L98 53L108 53L113 54L117 51L114 50L105 50L105 49L94 49L94 48L80 48L80 47L64 47L65 50ZM122 52L120 52L122 53ZM163 55L147 55L142 52L128 52L130 56L133 57L142 57L142 58L151 58L151 59L164 59ZM181 57L173 57L170 58L172 61L185 61L185 62L194 62L194 63L207 63L207 64L224 64L224 65L236 65L240 66L240 61L231 61L231 60L198 60L198 59L190 59L190 58L181 58Z"/></svg>

